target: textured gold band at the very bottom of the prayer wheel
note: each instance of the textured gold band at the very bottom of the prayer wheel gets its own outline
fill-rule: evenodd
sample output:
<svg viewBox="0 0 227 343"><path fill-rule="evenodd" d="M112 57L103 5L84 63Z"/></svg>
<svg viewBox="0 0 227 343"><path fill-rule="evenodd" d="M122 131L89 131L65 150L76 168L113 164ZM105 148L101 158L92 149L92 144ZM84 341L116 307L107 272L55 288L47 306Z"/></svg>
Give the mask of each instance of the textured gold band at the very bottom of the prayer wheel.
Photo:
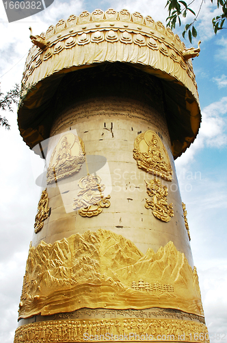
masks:
<svg viewBox="0 0 227 343"><path fill-rule="evenodd" d="M131 333L131 339L129 334ZM145 336L145 337L144 337ZM209 342L206 325L192 320L119 318L52 320L16 329L14 343L48 342Z"/></svg>

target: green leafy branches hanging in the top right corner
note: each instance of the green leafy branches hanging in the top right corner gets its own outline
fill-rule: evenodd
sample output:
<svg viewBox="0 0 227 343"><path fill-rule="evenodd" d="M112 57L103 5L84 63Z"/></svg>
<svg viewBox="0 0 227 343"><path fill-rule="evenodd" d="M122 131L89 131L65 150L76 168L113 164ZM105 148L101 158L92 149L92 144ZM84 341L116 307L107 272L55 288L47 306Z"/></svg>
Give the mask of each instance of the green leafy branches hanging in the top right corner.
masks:
<svg viewBox="0 0 227 343"><path fill-rule="evenodd" d="M196 20L198 19L198 16L200 14L200 10L202 8L202 5L204 3L204 0L201 0L200 8L197 13L195 13L189 6L196 0L192 0L189 4L187 4L183 0L168 0L165 7L168 7L169 16L166 19L167 26L169 26L171 29L174 29L176 27L176 22L178 21L178 25L181 26L181 18L185 18L189 12L191 12L194 16L193 21L191 23L185 25L185 29L182 33L183 38L185 38L185 34L188 34L189 41L191 43L192 37L196 38L197 31L194 24L196 23ZM211 3L213 3L213 0L211 0ZM217 0L217 8L222 7L222 15L216 16L212 19L213 29L215 34L217 34L217 31L220 29L225 29L226 27L223 27L226 19L227 19L227 0Z"/></svg>

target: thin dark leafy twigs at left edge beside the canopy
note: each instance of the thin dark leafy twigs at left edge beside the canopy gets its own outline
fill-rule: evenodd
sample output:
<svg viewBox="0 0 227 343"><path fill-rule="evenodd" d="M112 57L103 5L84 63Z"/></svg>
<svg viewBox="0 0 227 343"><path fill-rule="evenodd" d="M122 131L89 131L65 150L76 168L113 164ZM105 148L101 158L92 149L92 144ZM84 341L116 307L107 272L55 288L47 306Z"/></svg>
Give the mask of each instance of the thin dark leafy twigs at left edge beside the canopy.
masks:
<svg viewBox="0 0 227 343"><path fill-rule="evenodd" d="M0 89L0 110L10 110L12 112L12 104L18 104L20 99L20 86L16 84L13 89L8 91L5 95ZM0 115L0 126L5 126L6 129L10 130L10 124L8 119L1 117Z"/></svg>

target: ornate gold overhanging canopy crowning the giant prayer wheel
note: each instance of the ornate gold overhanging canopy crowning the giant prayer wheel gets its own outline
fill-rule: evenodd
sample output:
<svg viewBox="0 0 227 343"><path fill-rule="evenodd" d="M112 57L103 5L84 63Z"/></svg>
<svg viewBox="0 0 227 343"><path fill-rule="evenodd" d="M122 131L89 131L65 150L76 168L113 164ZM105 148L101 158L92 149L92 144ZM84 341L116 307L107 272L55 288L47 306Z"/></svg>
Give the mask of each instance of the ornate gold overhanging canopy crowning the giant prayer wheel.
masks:
<svg viewBox="0 0 227 343"><path fill-rule="evenodd" d="M103 62L124 62L157 76L163 84L174 158L193 142L200 127L198 91L190 58L200 49L186 49L170 28L151 16L128 10L95 10L71 15L33 36L22 86L18 126L29 147L49 137L51 99L66 73Z"/></svg>

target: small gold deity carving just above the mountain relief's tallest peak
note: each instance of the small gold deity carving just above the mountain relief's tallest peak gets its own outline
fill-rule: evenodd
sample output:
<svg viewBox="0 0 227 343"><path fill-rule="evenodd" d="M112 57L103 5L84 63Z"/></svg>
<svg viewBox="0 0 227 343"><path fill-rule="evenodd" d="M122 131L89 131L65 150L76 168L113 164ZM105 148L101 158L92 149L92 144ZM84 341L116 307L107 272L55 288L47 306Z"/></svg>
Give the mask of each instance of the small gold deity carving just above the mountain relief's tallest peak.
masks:
<svg viewBox="0 0 227 343"><path fill-rule="evenodd" d="M82 217L99 215L104 207L110 206L110 196L104 196L105 185L101 185L99 176L88 174L79 180L78 185L82 190L78 192L77 197L81 198L74 200L72 209L78 210Z"/></svg>

